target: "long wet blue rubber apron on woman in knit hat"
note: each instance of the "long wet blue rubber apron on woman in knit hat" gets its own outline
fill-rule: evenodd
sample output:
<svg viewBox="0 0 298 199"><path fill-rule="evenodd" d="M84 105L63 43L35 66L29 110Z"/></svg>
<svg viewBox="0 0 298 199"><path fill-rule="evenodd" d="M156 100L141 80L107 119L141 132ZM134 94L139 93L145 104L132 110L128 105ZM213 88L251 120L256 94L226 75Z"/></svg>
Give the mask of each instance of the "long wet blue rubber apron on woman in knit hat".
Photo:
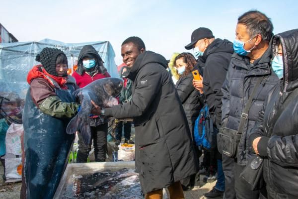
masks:
<svg viewBox="0 0 298 199"><path fill-rule="evenodd" d="M74 102L71 95L74 87L68 87L68 90L55 88L55 93L64 102ZM54 197L74 141L74 134L66 133L70 119L60 119L41 112L28 90L23 111L27 199Z"/></svg>

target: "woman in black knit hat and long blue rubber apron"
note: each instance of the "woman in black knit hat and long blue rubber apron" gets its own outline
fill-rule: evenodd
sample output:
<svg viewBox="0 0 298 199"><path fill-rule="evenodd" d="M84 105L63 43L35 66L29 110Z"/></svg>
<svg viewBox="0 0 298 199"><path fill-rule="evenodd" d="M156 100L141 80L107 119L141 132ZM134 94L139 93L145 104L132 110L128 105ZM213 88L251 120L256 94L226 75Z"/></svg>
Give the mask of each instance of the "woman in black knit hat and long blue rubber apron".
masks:
<svg viewBox="0 0 298 199"><path fill-rule="evenodd" d="M74 134L66 133L79 104L72 93L75 80L67 75L68 61L63 51L44 48L28 73L28 89L23 112L24 181L21 198L52 199L67 166ZM23 192L24 193L24 192Z"/></svg>

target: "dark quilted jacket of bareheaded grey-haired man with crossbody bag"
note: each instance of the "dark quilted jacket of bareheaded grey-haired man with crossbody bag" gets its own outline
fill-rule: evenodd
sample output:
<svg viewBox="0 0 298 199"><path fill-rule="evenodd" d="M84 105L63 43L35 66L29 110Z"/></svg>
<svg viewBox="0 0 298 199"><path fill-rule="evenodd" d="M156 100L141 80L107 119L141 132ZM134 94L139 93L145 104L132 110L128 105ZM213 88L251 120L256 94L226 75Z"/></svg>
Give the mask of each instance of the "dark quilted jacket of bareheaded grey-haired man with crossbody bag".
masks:
<svg viewBox="0 0 298 199"><path fill-rule="evenodd" d="M270 44L271 45L271 44ZM251 128L258 120L259 111L269 91L279 82L276 74L270 69L271 47L263 56L250 64L249 58L233 54L226 79L222 88L223 106L222 106L222 124L227 128L238 130L240 115L244 110L245 104L252 93L252 90L259 77L263 76L261 85L253 98L249 112L248 121L245 124L242 137L239 143L237 163L246 165L252 157L249 153L248 137Z"/></svg>

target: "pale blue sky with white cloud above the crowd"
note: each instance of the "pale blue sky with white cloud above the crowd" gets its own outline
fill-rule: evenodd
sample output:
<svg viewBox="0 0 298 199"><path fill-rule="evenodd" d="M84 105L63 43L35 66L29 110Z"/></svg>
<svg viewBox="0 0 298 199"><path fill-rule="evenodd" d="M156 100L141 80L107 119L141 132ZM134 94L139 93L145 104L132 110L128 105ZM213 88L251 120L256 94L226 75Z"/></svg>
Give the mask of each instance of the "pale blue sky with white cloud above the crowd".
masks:
<svg viewBox="0 0 298 199"><path fill-rule="evenodd" d="M0 23L19 41L110 41L119 65L129 36L169 59L187 51L198 27L232 41L238 16L250 9L270 17L274 33L298 28L297 0L2 0Z"/></svg>

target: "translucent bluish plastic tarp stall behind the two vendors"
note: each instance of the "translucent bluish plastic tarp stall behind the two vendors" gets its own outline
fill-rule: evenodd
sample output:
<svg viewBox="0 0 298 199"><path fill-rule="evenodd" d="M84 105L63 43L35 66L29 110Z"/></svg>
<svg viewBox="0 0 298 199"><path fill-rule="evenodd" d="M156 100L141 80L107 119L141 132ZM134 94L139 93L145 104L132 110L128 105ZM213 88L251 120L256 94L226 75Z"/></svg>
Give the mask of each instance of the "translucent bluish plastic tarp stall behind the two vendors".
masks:
<svg viewBox="0 0 298 199"><path fill-rule="evenodd" d="M0 97L10 101L3 101L2 109L12 118L21 119L21 112L29 85L26 81L29 70L39 62L35 56L45 47L58 48L68 57L69 68L73 68L79 51L84 45L92 45L112 77L118 77L117 66L114 61L115 52L108 41L86 43L63 43L44 39L38 42L0 43Z"/></svg>

